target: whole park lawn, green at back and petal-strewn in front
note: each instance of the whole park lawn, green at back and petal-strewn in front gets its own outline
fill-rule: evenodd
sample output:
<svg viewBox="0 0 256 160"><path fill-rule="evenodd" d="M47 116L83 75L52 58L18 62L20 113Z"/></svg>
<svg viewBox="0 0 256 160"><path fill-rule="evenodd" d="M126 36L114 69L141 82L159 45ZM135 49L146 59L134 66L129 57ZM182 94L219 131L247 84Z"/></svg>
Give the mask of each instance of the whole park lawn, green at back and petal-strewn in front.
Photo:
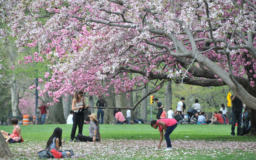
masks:
<svg viewBox="0 0 256 160"><path fill-rule="evenodd" d="M56 127L66 139L62 149L73 149L75 159L255 159L256 140L252 136L230 136L231 125L178 125L170 135L173 151L164 152L166 142L157 149L160 134L149 124L100 125L101 142L69 142L72 125L21 126L24 143L9 144L10 159L38 159L37 152ZM89 125L83 126L88 135ZM0 126L12 132L13 126ZM84 155L84 157L82 157Z"/></svg>

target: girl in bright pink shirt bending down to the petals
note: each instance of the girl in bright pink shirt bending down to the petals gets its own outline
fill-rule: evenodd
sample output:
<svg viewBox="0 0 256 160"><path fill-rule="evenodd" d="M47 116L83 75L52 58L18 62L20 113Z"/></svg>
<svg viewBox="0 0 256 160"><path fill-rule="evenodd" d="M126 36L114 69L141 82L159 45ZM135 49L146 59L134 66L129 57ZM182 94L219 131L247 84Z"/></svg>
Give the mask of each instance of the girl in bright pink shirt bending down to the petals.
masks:
<svg viewBox="0 0 256 160"><path fill-rule="evenodd" d="M172 145L171 145L171 139L170 139L170 134L174 131L174 129L177 127L178 123L175 119L173 118L167 118L167 119L158 119L151 121L150 123L151 127L157 129L159 126L159 131L160 131L160 140L158 144L158 148L161 147L161 143L163 141L163 135L165 136L165 140L167 143L167 148L164 151L171 151L173 150ZM164 130L164 132L163 132Z"/></svg>

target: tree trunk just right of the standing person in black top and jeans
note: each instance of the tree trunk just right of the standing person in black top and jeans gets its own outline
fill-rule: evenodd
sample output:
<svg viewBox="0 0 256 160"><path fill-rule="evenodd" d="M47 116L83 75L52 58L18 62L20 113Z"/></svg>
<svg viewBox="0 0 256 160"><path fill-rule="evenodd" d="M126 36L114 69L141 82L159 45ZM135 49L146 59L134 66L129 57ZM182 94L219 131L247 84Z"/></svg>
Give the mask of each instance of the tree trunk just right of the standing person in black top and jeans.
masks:
<svg viewBox="0 0 256 160"><path fill-rule="evenodd" d="M109 96L114 95L114 88L113 85L110 85L108 88ZM107 106L115 107L115 96L109 97L105 99ZM105 109L104 111L104 124L114 123L114 109Z"/></svg>

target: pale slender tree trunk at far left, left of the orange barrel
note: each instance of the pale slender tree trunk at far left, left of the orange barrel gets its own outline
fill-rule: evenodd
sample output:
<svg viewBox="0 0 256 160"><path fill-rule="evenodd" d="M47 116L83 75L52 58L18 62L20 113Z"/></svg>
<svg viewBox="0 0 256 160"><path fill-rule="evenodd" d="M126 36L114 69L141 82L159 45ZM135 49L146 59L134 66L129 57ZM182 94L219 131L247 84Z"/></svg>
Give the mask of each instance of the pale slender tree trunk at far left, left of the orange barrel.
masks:
<svg viewBox="0 0 256 160"><path fill-rule="evenodd" d="M11 85L11 97L12 97L12 111L13 116L20 116L19 108L18 108L18 93L17 93L17 83L15 79L15 75L11 75L10 77L10 85Z"/></svg>

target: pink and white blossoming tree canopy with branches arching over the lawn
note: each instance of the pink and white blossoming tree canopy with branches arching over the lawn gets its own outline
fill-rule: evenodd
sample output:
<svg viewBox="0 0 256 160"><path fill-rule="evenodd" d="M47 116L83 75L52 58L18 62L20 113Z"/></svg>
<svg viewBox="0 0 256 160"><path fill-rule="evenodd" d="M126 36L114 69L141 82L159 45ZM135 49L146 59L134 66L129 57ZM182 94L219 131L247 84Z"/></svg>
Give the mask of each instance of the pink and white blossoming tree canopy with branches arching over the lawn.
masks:
<svg viewBox="0 0 256 160"><path fill-rule="evenodd" d="M155 85L149 95L166 80L228 85L251 108L256 133L254 0L2 0L1 9L10 26L1 36L15 36L20 47L38 45L47 55L53 72L45 74L51 79L41 95L48 92L55 102L76 89L103 94L110 85L123 94L149 82ZM105 79L110 83L103 87Z"/></svg>

